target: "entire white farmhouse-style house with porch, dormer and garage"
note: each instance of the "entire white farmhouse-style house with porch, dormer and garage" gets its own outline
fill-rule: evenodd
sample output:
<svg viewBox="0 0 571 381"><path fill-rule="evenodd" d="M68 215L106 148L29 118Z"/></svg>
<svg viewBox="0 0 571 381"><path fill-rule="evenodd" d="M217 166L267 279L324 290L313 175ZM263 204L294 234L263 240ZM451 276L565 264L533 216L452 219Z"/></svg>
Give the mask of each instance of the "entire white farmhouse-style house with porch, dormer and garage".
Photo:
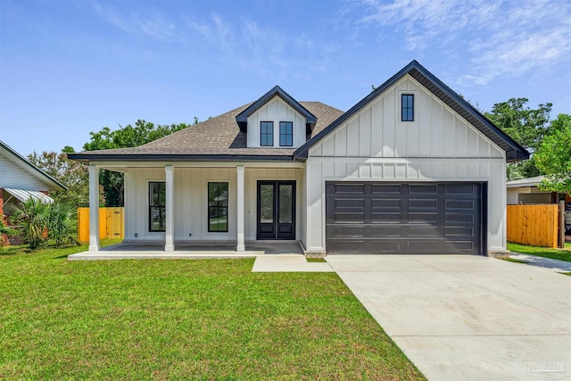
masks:
<svg viewBox="0 0 571 381"><path fill-rule="evenodd" d="M72 153L125 174L126 241L299 240L307 253L506 249L506 162L529 153L418 62L348 112L274 87L135 148ZM99 249L90 213L90 251Z"/></svg>

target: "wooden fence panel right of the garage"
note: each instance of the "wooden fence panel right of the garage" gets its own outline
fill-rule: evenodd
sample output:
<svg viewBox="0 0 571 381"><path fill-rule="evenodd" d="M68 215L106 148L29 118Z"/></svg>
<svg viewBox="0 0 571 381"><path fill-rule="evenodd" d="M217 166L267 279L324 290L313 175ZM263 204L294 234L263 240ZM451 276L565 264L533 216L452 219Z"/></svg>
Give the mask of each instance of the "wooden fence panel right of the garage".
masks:
<svg viewBox="0 0 571 381"><path fill-rule="evenodd" d="M558 247L559 205L508 205L508 241Z"/></svg>

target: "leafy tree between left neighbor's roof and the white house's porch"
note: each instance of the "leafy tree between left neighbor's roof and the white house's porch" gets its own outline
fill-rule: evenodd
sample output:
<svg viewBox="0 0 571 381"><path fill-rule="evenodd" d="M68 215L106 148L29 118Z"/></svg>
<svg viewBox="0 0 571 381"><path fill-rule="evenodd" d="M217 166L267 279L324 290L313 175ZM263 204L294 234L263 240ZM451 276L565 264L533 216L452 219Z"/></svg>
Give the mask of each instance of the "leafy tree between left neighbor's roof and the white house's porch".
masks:
<svg viewBox="0 0 571 381"><path fill-rule="evenodd" d="M68 159L68 153L73 152L73 148L66 145L62 153L34 151L28 155L28 160L68 187L67 191L51 191L50 196L54 201L77 209L89 204L89 172L81 162ZM100 197L103 197L102 190L103 187L100 189Z"/></svg>

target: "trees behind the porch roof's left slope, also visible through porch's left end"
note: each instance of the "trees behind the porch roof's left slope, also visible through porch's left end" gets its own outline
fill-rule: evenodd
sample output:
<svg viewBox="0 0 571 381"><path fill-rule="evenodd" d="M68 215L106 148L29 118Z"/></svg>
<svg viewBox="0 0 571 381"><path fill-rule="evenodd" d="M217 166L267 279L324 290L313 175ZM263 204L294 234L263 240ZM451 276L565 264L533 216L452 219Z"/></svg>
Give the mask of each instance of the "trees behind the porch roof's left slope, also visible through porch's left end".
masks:
<svg viewBox="0 0 571 381"><path fill-rule="evenodd" d="M154 125L145 120L137 120L135 126L130 124L112 130L103 127L98 132L90 132L91 140L83 145L86 151L107 150L114 148L137 147L152 142L160 137L166 137L173 132L180 131L198 124L194 117L193 124L179 123L168 125ZM106 206L123 206L123 174L112 170L101 170L99 183L103 186L103 195Z"/></svg>

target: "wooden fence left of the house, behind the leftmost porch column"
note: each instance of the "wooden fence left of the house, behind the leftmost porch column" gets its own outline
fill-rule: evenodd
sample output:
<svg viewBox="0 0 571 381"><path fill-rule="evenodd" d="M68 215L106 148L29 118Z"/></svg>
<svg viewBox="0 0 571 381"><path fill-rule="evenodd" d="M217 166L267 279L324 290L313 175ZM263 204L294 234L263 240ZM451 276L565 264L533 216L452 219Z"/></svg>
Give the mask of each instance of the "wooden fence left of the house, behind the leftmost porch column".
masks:
<svg viewBox="0 0 571 381"><path fill-rule="evenodd" d="M99 208L99 238L123 238L123 208ZM89 208L78 208L78 239L89 242Z"/></svg>

